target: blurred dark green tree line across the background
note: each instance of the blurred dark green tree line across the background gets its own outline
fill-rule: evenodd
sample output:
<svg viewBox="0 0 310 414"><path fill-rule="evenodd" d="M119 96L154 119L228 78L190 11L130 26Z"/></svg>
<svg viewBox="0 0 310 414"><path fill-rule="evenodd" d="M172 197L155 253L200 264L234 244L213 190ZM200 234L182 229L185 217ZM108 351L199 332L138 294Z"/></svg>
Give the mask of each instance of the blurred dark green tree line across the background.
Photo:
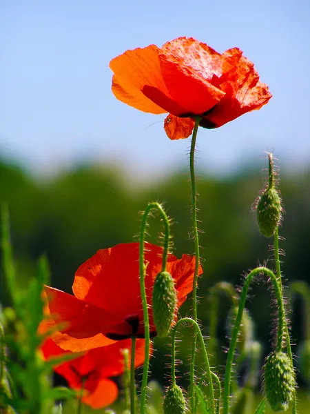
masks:
<svg viewBox="0 0 310 414"><path fill-rule="evenodd" d="M267 164L267 161L266 161ZM267 166L267 165L266 165ZM208 333L209 288L219 281L241 286L242 273L263 264L273 269L269 245L273 239L262 237L251 212L260 189L267 179L260 168L249 168L237 175L215 179L200 174L198 219L204 275L200 278L198 315ZM294 279L310 282L308 255L310 254L310 170L303 175L281 172L280 191L285 215L280 235L285 239L280 247L285 285ZM132 242L138 235L138 212L148 201L163 202L173 219L174 254L193 253L191 238L189 172L178 171L148 185L132 186L124 175L102 166L79 166L61 172L49 179L32 177L19 166L6 161L0 163L0 201L10 208L12 242L20 283L34 270L37 257L48 256L52 271L52 286L72 293L71 286L76 269L99 248L121 242ZM149 241L158 240L158 221L149 228ZM0 302L8 304L6 286L0 279ZM188 301L189 302L189 301ZM189 303L183 306L187 312ZM267 286L254 286L247 303L256 322L256 336L264 344L267 354L271 344L271 319ZM293 313L293 343L303 339L302 306L296 301ZM218 335L225 339L225 317L229 300L221 300ZM223 323L222 323L223 322ZM167 353L158 340L159 352ZM154 366L158 368L158 364ZM154 374L156 376L156 373Z"/></svg>

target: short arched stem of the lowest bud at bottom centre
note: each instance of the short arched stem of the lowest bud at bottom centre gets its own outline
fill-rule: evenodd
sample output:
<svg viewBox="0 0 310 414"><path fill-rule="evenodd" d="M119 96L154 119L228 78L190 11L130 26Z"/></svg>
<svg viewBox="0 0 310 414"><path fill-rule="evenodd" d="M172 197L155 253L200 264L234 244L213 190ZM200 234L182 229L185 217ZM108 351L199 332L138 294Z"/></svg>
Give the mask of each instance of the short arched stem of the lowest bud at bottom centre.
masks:
<svg viewBox="0 0 310 414"><path fill-rule="evenodd" d="M213 382L212 382L212 373L211 368L209 364L209 358L207 355L207 350L205 348L205 341L203 340L203 334L200 331L199 325L197 324L194 319L191 319L190 317L183 317L183 319L180 319L176 324L174 325L174 328L172 330L172 364L171 364L171 375L172 375L172 384L176 384L176 329L178 326L183 323L188 322L192 324L195 328L195 333L198 336L198 339L200 341L200 347L201 351L203 351L203 359L205 362L205 370L206 370L206 376L208 380L208 390L209 390L209 402L210 402L210 414L214 414L214 389L213 389Z"/></svg>

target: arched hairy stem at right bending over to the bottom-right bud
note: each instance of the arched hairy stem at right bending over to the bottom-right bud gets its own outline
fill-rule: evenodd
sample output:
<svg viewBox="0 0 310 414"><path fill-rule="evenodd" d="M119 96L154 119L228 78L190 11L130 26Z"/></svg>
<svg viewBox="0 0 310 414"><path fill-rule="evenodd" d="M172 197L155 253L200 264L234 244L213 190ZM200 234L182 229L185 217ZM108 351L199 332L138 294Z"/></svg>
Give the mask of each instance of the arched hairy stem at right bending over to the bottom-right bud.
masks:
<svg viewBox="0 0 310 414"><path fill-rule="evenodd" d="M240 304L238 308L238 314L236 317L236 322L234 329L231 333L231 342L229 346L229 351L227 354L227 362L226 362L226 368L225 368L225 382L224 382L224 395L223 395L223 414L229 413L229 397L230 397L230 383L231 383L231 371L232 366L234 363L234 353L236 351L236 343L238 339L238 332L240 328L240 324L242 321L242 314L245 308L245 301L247 299L247 291L249 290L249 285L251 284L253 278L258 274L265 274L271 279L271 282L273 284L273 289L276 294L277 304L278 304L278 340L277 340L277 351L280 351L282 349L282 341L283 341L283 328L285 324L285 309L282 299L282 293L280 291L280 286L278 284L278 280L276 275L265 267L258 267L254 270L252 270L249 275L247 275L247 278L245 279L245 284L243 285L242 292L240 295Z"/></svg>

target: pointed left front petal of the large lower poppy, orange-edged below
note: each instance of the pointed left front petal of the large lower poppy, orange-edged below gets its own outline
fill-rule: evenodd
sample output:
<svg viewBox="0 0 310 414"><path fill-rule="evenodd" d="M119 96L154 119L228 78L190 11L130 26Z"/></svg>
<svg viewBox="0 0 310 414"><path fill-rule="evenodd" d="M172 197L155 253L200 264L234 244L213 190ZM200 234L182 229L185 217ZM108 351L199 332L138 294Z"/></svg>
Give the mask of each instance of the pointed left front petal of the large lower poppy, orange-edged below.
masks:
<svg viewBox="0 0 310 414"><path fill-rule="evenodd" d="M82 351L85 347L88 348L87 341L92 346L94 343L97 346L103 346L114 342L104 337L102 333L109 331L110 326L123 322L116 315L62 290L45 286L45 293L48 297L47 307L51 316L47 321L47 326L50 328L60 324L59 333L53 336L61 348ZM63 322L65 326L62 328Z"/></svg>

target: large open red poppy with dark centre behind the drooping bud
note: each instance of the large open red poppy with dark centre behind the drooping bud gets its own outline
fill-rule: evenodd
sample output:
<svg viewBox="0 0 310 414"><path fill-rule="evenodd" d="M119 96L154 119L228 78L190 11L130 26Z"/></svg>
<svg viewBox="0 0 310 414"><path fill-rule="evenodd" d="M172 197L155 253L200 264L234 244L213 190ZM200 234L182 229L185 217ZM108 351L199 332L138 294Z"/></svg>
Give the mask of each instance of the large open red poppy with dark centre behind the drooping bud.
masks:
<svg viewBox="0 0 310 414"><path fill-rule="evenodd" d="M143 308L140 295L138 243L118 244L99 250L77 270L72 286L73 295L45 287L48 326L59 326L54 342L69 351L85 351L105 346L120 339L143 338ZM152 302L152 289L161 271L163 248L145 244L145 275L147 303ZM169 254L167 271L172 275L178 292L178 306L192 291L195 257L183 255L176 259ZM199 269L199 274L203 272ZM156 328L149 306L150 336Z"/></svg>

